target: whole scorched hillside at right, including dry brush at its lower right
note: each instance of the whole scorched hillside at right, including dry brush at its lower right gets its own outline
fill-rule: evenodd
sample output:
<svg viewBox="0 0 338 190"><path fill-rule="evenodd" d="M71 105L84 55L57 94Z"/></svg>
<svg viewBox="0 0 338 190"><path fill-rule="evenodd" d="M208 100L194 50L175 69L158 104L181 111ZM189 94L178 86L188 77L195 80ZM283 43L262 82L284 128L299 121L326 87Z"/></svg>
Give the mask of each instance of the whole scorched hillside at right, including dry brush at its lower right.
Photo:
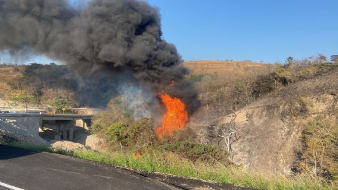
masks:
<svg viewBox="0 0 338 190"><path fill-rule="evenodd" d="M338 69L334 69L295 82L235 112L239 129L232 144L234 161L255 170L311 173L314 163L309 159L318 159L322 174L335 172L338 149L328 142L336 142L337 136L323 135L338 134L337 76ZM225 146L217 131L229 123L229 116L214 121L216 129L191 128L199 134L200 142ZM323 144L322 139L327 143ZM312 148L313 154L322 156L320 159L313 157L312 151L308 152Z"/></svg>

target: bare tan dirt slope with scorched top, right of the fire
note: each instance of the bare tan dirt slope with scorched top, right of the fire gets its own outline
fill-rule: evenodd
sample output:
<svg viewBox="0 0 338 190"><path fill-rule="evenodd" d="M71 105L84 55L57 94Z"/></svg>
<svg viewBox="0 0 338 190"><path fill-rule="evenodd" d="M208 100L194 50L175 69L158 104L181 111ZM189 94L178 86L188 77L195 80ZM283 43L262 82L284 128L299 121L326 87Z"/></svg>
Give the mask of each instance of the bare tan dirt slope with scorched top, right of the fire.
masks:
<svg viewBox="0 0 338 190"><path fill-rule="evenodd" d="M246 168L289 172L305 123L321 115L338 119L338 70L283 88L237 112L234 161ZM227 123L228 117L220 119ZM215 130L196 127L200 141L225 145Z"/></svg>

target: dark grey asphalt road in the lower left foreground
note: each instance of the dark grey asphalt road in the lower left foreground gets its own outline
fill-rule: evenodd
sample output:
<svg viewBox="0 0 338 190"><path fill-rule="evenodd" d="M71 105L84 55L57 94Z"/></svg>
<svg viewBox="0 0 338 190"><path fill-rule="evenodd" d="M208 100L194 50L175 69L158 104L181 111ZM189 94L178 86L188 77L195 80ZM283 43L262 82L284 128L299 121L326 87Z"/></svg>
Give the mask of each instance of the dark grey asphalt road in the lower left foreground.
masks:
<svg viewBox="0 0 338 190"><path fill-rule="evenodd" d="M0 182L24 190L175 190L122 168L3 145Z"/></svg>

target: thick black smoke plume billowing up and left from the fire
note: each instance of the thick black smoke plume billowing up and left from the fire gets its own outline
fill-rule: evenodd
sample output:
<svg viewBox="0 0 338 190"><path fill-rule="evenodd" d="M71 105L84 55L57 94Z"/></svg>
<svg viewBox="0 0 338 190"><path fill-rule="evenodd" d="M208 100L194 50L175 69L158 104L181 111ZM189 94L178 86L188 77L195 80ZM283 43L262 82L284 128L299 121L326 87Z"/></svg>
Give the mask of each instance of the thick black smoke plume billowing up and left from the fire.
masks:
<svg viewBox="0 0 338 190"><path fill-rule="evenodd" d="M167 92L193 112L188 71L161 35L159 12L144 1L91 0L75 10L67 0L0 0L0 51L44 54L83 75L129 71L153 93L174 79Z"/></svg>

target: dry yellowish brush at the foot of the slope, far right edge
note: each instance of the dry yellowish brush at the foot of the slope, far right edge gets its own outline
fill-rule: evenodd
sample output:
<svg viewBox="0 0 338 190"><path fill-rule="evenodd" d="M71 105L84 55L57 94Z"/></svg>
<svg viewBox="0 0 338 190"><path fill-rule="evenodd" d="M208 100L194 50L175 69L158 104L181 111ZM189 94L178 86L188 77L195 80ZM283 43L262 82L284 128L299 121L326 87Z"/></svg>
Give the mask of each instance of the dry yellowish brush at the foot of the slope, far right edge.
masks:
<svg viewBox="0 0 338 190"><path fill-rule="evenodd" d="M318 116L306 123L303 149L296 170L327 180L338 180L338 121Z"/></svg>

